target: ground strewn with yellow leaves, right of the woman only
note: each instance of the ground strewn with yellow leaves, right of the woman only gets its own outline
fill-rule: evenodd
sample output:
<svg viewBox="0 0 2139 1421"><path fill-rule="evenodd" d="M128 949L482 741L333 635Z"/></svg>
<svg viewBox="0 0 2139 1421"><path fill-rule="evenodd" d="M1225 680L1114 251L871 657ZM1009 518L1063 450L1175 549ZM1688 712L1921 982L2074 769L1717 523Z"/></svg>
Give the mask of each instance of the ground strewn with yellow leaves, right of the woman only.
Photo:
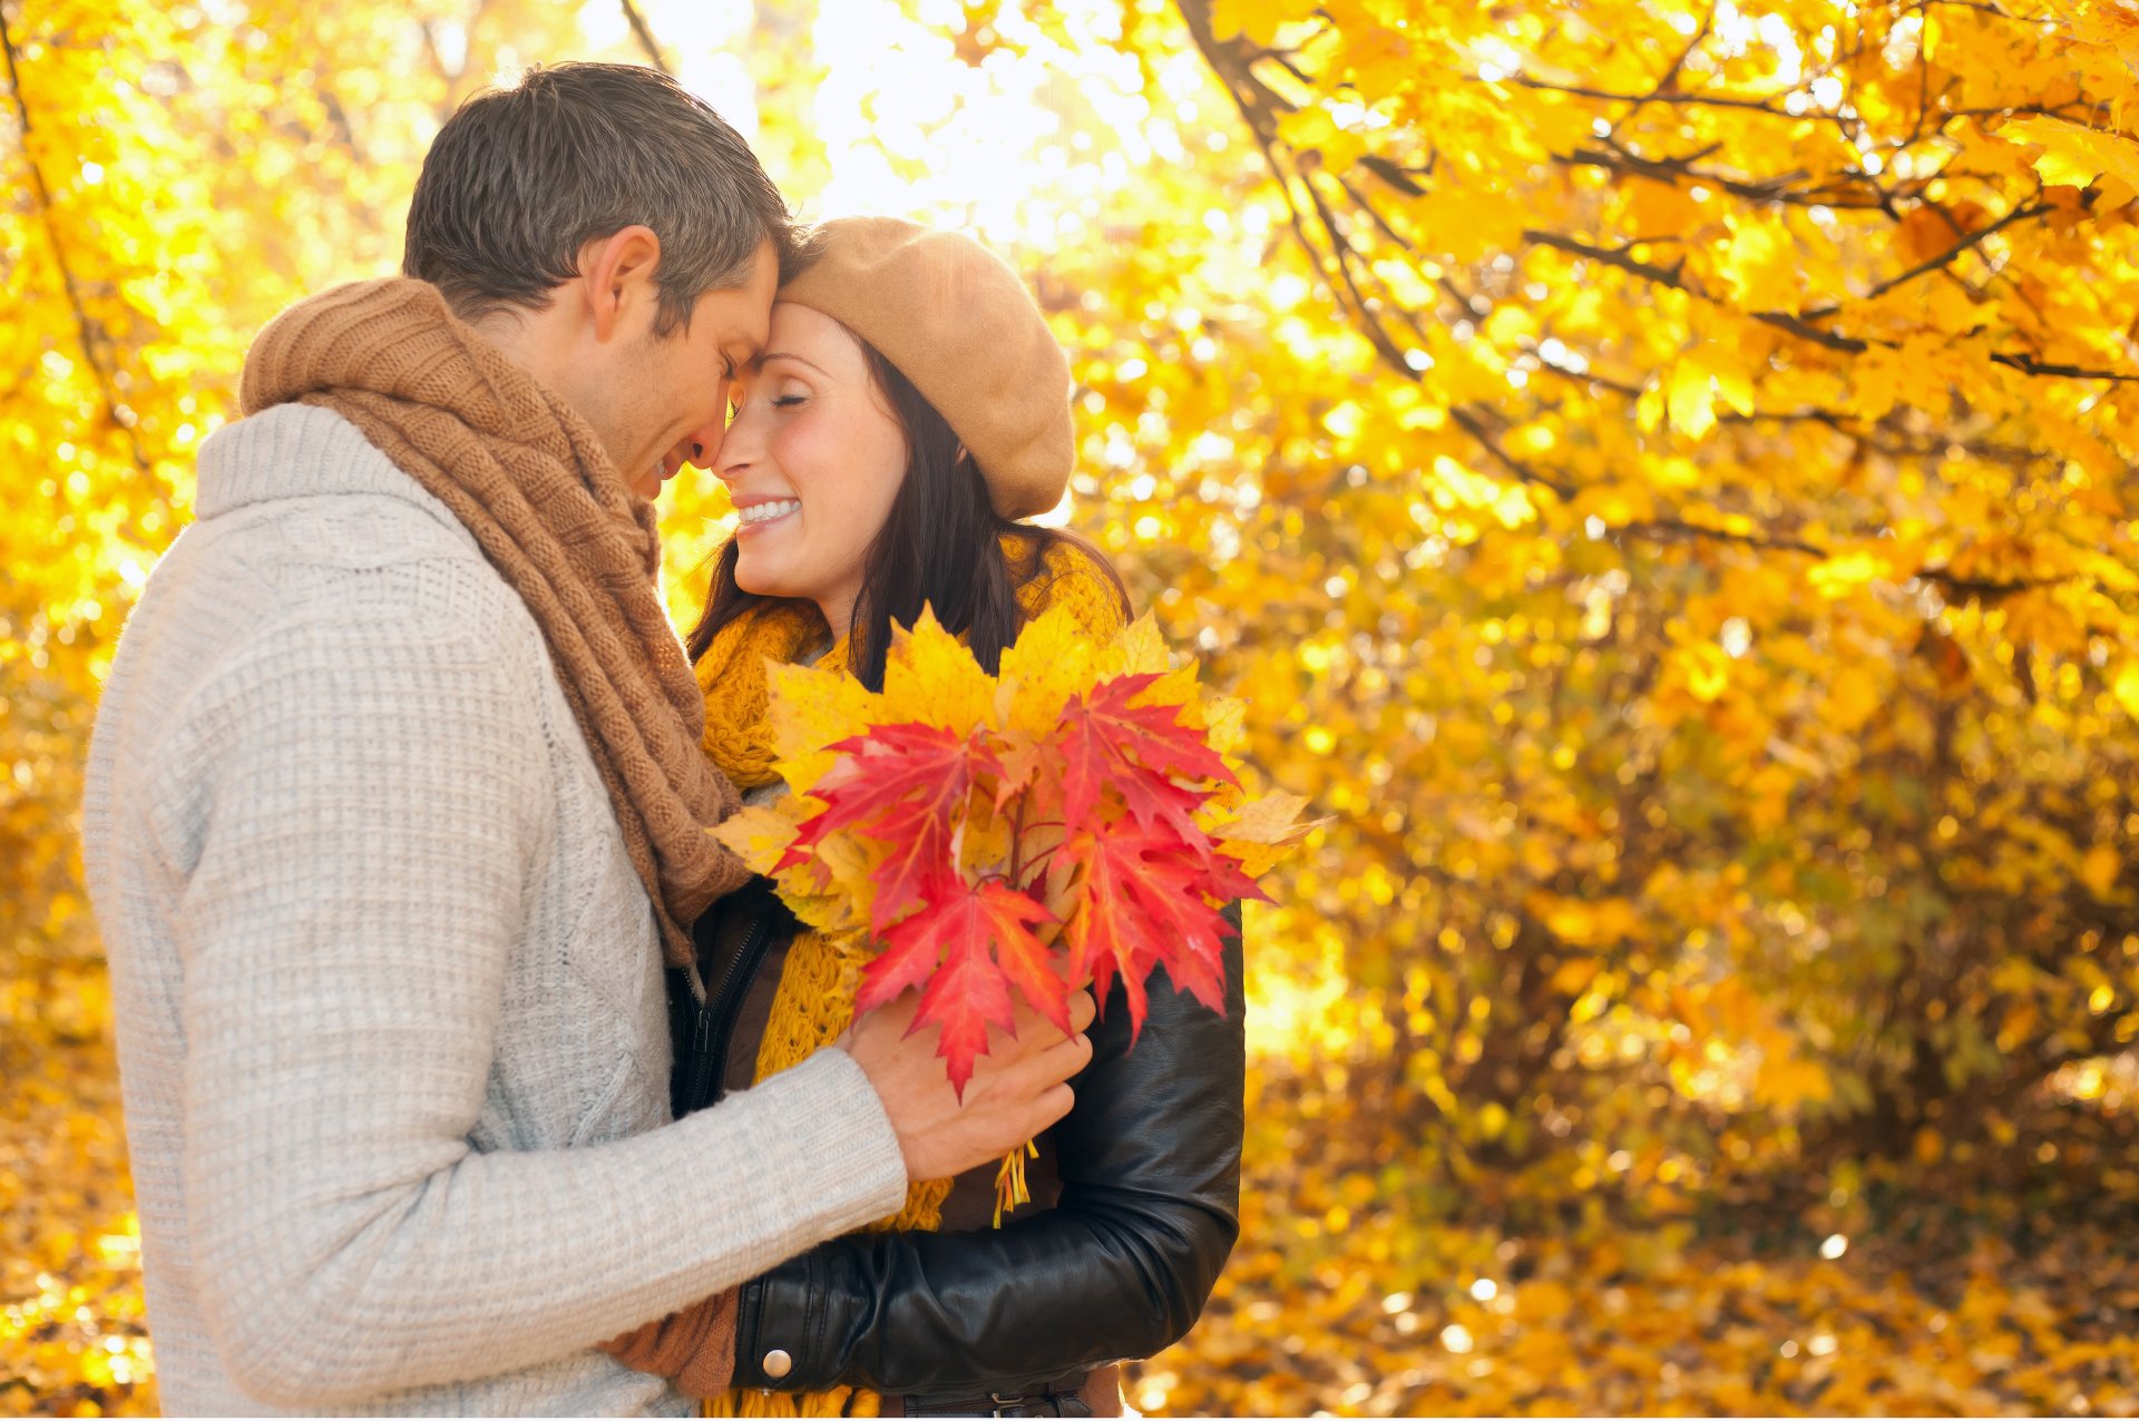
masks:
<svg viewBox="0 0 2139 1421"><path fill-rule="evenodd" d="M1273 1062L1251 1090L1243 1239L1189 1340L1136 1370L1149 1412L2139 1415L2139 1150L2100 1100L2045 1098L1964 1165L1544 1231L1414 1209L1399 1141L1315 1143ZM1480 1214L1521 1214L1495 1192Z"/></svg>

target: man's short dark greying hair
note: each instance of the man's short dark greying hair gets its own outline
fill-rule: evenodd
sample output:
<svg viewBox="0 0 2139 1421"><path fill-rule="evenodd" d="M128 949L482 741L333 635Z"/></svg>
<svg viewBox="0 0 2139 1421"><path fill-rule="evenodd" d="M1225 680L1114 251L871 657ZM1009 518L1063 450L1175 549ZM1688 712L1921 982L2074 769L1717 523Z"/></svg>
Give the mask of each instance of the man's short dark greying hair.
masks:
<svg viewBox="0 0 2139 1421"><path fill-rule="evenodd" d="M582 246L640 222L661 237L657 335L689 325L708 291L749 280L764 241L783 274L796 261L787 201L702 98L637 64L535 66L438 130L409 203L402 274L466 321L539 310L578 276Z"/></svg>

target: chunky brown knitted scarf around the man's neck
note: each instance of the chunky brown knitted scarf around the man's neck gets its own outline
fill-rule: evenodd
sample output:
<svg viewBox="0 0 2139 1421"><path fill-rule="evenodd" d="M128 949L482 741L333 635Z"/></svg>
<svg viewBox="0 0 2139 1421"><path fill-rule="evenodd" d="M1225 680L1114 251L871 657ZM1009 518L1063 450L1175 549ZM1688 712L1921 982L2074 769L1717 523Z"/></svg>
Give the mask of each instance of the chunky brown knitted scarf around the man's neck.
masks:
<svg viewBox="0 0 2139 1421"><path fill-rule="evenodd" d="M706 829L736 788L699 752L704 703L661 609L652 504L563 400L505 359L428 282L385 278L276 316L240 406L317 404L451 509L526 603L571 703L667 959L749 870Z"/></svg>

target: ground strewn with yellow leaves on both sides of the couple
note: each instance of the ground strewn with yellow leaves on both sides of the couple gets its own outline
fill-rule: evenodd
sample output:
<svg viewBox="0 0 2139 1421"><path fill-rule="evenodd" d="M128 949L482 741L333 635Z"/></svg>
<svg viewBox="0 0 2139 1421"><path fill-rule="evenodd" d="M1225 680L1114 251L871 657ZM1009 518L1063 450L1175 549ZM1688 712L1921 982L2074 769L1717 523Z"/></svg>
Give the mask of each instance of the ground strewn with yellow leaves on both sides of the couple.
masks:
<svg viewBox="0 0 2139 1421"><path fill-rule="evenodd" d="M152 1415L103 974L0 983L0 1415ZM1136 1370L1149 1412L2139 1415L2139 1152L2103 1100L1944 1188L1906 1160L1542 1231L1429 1214L1292 1066L1251 1090L1243 1242Z"/></svg>

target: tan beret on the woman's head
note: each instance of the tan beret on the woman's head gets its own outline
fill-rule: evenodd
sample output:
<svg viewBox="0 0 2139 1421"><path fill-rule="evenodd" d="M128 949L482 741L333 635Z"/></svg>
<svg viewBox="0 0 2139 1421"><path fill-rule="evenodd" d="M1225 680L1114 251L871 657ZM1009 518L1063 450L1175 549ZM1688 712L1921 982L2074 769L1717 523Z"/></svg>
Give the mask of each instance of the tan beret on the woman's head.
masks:
<svg viewBox="0 0 2139 1421"><path fill-rule="evenodd" d="M1018 274L958 233L901 218L834 218L819 254L781 288L866 340L950 423L1003 517L1031 517L1070 485L1070 357Z"/></svg>

